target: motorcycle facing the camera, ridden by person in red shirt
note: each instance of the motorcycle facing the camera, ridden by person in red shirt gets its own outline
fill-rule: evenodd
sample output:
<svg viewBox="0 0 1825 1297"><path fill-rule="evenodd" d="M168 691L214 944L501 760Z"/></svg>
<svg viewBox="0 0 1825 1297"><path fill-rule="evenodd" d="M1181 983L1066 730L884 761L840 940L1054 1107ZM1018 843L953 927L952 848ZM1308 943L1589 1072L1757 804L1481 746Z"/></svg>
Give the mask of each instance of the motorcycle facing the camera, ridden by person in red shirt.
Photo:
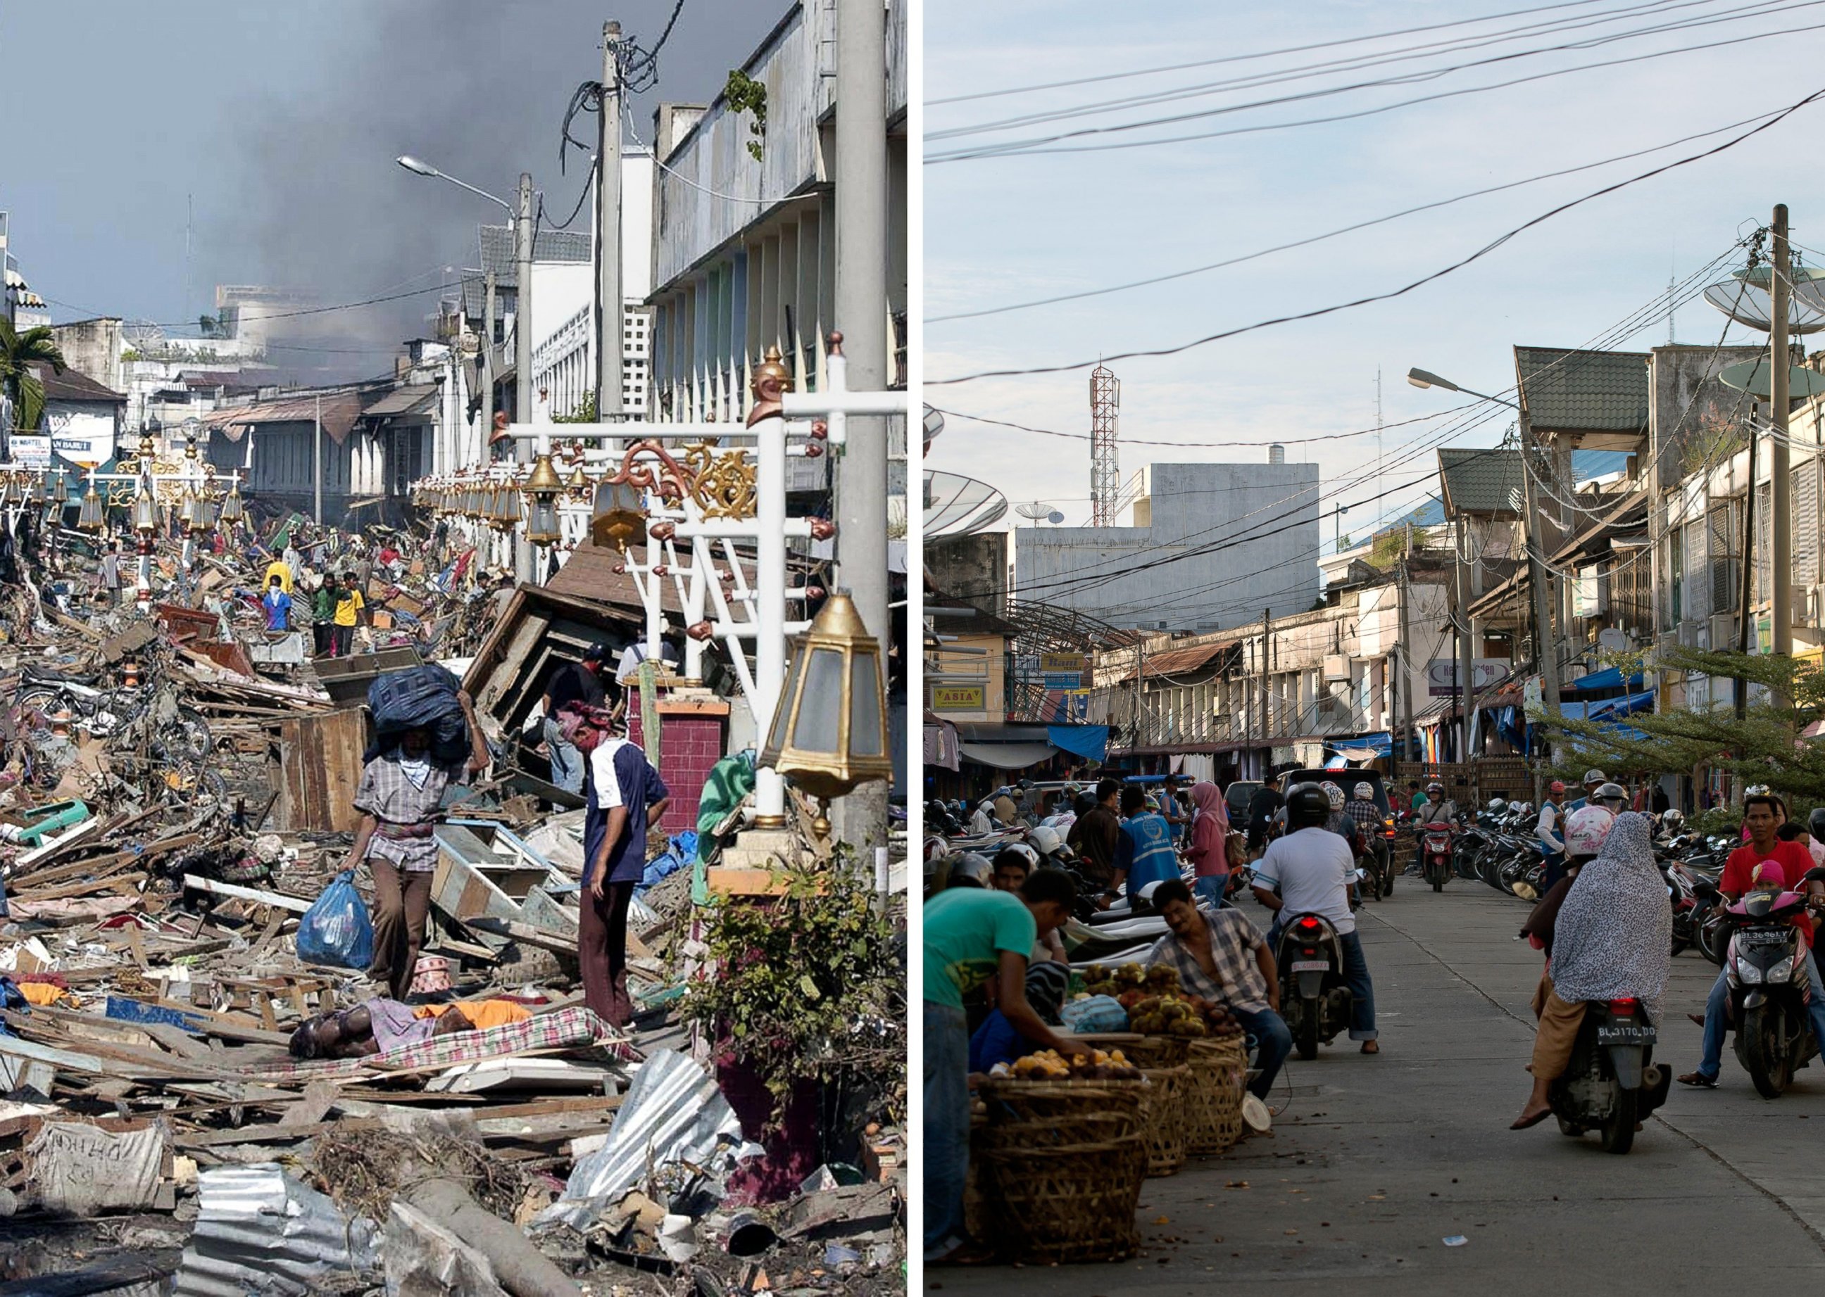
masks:
<svg viewBox="0 0 1825 1297"><path fill-rule="evenodd" d="M1750 892L1730 907L1736 930L1725 956L1736 1060L1763 1098L1779 1098L1818 1053L1807 1016L1807 949L1792 916L1799 892Z"/></svg>

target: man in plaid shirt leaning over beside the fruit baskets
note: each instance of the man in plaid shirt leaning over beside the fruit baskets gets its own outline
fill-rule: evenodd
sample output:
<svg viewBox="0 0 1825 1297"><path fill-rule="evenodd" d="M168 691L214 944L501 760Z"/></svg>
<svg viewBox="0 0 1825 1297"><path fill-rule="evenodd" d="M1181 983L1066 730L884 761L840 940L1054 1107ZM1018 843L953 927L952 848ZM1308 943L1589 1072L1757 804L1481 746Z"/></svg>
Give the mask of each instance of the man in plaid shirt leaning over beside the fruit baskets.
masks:
<svg viewBox="0 0 1825 1297"><path fill-rule="evenodd" d="M1170 936L1153 943L1146 965L1168 965L1186 996L1223 1003L1256 1038L1261 1071L1248 1089L1265 1100L1292 1053L1292 1031L1278 1012L1279 970L1267 939L1241 910L1199 910L1184 879L1155 887L1153 910L1166 919Z"/></svg>

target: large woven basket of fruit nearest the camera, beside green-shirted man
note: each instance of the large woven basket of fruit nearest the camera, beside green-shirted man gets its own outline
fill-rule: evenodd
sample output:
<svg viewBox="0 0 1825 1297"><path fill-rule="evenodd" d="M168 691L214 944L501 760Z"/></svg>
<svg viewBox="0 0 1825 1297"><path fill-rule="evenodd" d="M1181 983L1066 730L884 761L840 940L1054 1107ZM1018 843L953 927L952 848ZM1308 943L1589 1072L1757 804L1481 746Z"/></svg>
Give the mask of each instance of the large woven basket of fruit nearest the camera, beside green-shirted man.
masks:
<svg viewBox="0 0 1825 1297"><path fill-rule="evenodd" d="M1141 1246L1135 1208L1146 1136L1095 1144L991 1147L986 1189L996 1198L1004 1255L1024 1262L1121 1261Z"/></svg>

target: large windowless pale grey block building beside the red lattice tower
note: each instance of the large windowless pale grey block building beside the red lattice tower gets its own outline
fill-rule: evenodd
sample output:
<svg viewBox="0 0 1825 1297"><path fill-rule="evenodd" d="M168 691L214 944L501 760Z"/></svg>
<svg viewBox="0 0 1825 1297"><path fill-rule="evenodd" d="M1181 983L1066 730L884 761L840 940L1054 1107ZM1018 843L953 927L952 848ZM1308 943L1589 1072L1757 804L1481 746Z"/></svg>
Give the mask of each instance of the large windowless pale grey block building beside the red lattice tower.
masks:
<svg viewBox="0 0 1825 1297"><path fill-rule="evenodd" d="M1316 463L1153 463L1128 527L1017 527L1015 597L1121 629L1217 631L1318 600Z"/></svg>

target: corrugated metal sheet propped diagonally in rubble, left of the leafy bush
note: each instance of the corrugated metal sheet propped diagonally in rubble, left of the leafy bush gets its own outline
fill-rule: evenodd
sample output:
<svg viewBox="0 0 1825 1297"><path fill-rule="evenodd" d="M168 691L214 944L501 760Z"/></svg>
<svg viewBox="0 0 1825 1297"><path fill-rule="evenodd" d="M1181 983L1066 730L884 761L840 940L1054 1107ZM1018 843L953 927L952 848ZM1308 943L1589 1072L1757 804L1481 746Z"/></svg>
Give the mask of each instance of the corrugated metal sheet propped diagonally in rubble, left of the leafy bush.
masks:
<svg viewBox="0 0 1825 1297"><path fill-rule="evenodd" d="M608 1144L571 1169L564 1198L551 1211L562 1215L566 1202L624 1193L650 1166L704 1166L719 1146L739 1144L741 1122L715 1078L688 1054L661 1049L633 1074Z"/></svg>

